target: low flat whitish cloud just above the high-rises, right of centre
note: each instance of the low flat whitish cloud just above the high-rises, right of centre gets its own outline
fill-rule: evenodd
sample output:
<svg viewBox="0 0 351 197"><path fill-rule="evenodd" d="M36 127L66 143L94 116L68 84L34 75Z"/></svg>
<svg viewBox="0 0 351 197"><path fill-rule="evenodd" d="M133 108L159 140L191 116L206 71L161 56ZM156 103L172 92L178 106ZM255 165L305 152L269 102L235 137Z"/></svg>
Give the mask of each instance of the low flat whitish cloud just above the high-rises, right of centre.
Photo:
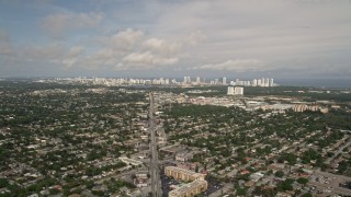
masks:
<svg viewBox="0 0 351 197"><path fill-rule="evenodd" d="M267 68L263 67L264 62L257 59L235 59L227 60L219 63L203 65L193 67L191 70L225 70L225 71L262 71Z"/></svg>

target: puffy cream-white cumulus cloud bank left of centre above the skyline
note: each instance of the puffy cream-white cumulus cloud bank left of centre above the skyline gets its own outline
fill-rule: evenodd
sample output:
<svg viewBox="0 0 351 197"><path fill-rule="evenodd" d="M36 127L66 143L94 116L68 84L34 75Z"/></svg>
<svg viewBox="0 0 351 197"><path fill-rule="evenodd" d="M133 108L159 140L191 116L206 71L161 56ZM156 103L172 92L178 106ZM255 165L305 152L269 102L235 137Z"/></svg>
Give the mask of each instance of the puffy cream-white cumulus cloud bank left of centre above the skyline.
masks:
<svg viewBox="0 0 351 197"><path fill-rule="evenodd" d="M190 37L199 40L192 34ZM101 45L99 49L88 54L81 65L92 69L113 66L116 70L146 70L159 66L165 68L185 57L185 46L193 46L189 43L189 36L166 39L133 28L99 37L98 40Z"/></svg>

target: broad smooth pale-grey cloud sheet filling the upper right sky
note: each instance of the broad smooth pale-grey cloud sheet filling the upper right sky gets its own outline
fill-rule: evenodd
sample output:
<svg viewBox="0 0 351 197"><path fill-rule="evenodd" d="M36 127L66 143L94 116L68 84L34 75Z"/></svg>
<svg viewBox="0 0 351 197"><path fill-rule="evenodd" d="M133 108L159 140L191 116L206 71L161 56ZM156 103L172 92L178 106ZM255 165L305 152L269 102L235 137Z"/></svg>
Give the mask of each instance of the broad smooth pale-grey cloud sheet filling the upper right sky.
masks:
<svg viewBox="0 0 351 197"><path fill-rule="evenodd" d="M315 57L331 59L349 50L350 16L347 1L204 0L173 3L162 13L156 28L169 35L199 30L201 34L193 36L200 37L194 42L197 46L193 46L189 58L182 61L192 69L206 68L193 67L195 65L210 68L215 63L208 62L222 62L234 55L242 60L260 59L265 63L265 67L257 67L260 69L290 69L286 62L298 57L310 59L308 65L301 67L318 68ZM234 62L244 63L234 59L216 65L230 69L226 65ZM339 65L340 58L333 58L331 62ZM337 67L336 70L341 69ZM242 67L241 70L250 72L253 69Z"/></svg>

